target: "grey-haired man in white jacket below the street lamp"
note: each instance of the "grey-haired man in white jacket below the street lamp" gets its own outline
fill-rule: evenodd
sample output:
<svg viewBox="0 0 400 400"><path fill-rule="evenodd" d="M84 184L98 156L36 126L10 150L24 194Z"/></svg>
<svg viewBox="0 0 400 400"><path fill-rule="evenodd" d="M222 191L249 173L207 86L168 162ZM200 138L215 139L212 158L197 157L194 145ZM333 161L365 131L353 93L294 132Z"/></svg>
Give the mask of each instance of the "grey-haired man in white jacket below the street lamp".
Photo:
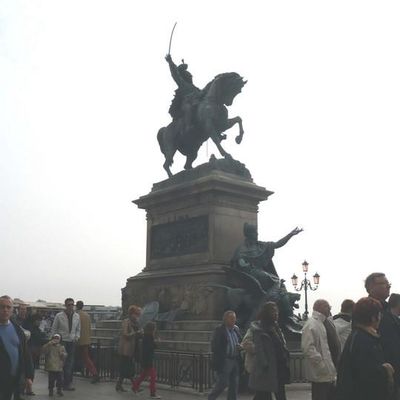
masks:
<svg viewBox="0 0 400 400"><path fill-rule="evenodd" d="M332 400L336 368L329 351L324 321L331 306L326 300L317 300L311 318L305 323L301 335L305 377L311 382L312 400Z"/></svg>

